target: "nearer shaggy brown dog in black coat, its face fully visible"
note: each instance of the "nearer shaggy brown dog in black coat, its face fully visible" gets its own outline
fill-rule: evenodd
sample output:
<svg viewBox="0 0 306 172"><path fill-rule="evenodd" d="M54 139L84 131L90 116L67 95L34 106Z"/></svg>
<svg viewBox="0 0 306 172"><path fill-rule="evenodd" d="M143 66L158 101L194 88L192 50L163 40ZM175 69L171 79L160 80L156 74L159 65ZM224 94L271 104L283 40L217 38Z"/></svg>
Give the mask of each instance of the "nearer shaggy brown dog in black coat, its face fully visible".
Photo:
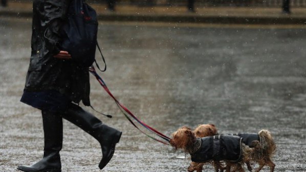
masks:
<svg viewBox="0 0 306 172"><path fill-rule="evenodd" d="M250 148L245 146L242 138L238 136L216 135L196 138L189 127L183 126L172 134L169 143L191 155L193 163L188 167L188 171L200 172L203 164L214 162L217 172L221 168L220 161L225 161L227 172L230 172L231 166L243 172L241 164L249 160Z"/></svg>

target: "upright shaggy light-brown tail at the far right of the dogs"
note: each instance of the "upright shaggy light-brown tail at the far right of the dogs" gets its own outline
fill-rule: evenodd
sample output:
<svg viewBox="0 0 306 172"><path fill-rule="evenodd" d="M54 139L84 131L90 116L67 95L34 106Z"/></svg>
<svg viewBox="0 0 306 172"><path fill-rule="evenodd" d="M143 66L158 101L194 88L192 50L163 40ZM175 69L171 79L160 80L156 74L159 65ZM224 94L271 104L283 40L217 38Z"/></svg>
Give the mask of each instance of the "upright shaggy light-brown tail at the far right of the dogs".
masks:
<svg viewBox="0 0 306 172"><path fill-rule="evenodd" d="M260 137L260 145L266 154L272 156L276 151L276 145L271 133L268 130L261 130L258 132Z"/></svg>

